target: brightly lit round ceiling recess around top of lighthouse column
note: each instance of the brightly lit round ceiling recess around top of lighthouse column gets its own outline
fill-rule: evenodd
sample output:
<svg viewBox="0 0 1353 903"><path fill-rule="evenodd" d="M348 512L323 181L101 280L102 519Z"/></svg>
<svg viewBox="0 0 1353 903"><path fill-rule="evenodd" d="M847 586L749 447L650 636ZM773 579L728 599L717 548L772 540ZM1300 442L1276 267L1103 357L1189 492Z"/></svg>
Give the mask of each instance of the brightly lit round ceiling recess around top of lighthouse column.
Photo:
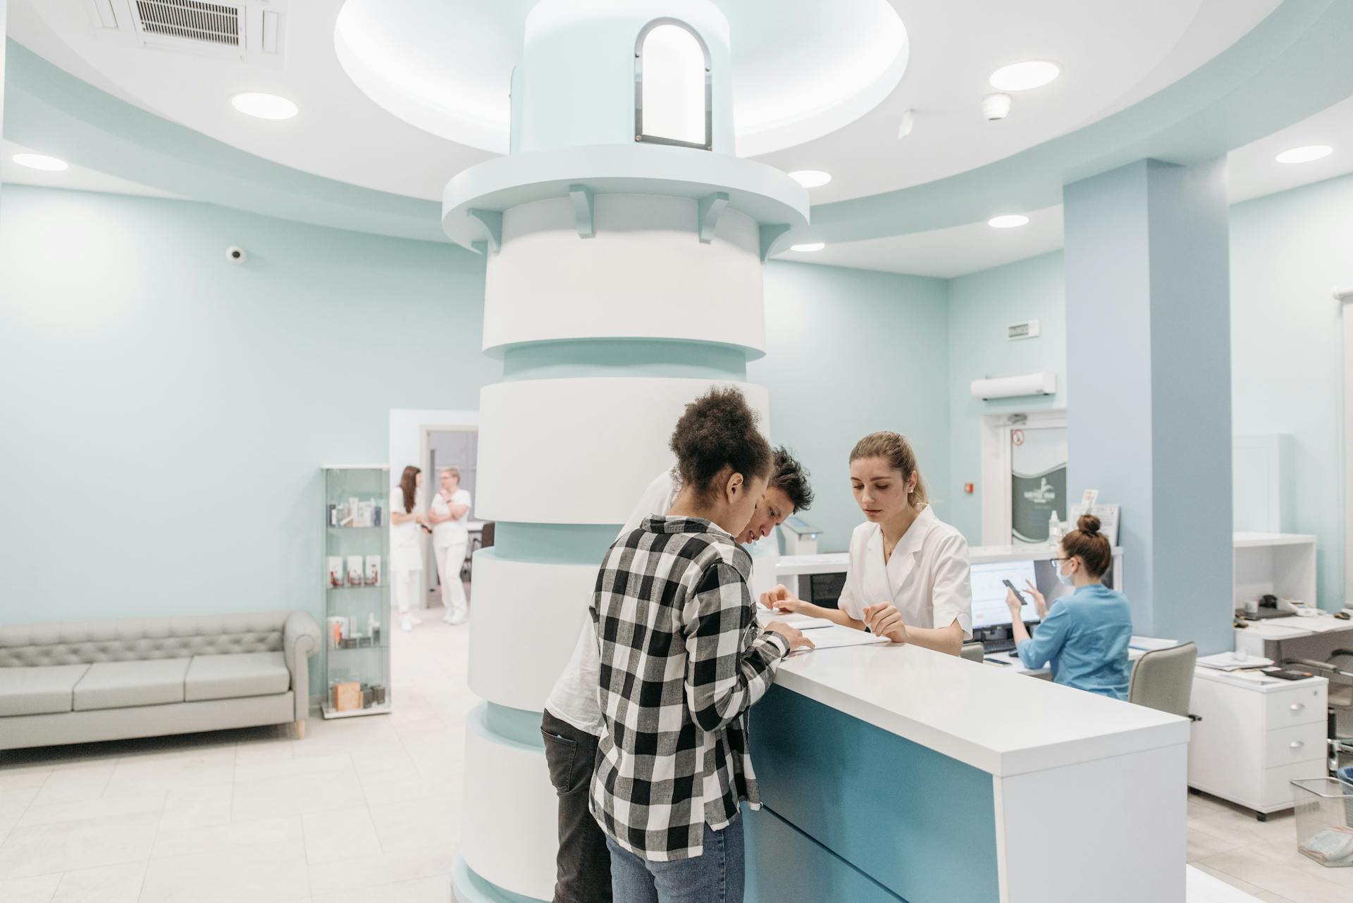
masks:
<svg viewBox="0 0 1353 903"><path fill-rule="evenodd" d="M395 116L448 141L507 153L507 84L534 3L346 0L334 49L357 88ZM842 128L892 93L907 69L907 28L888 0L716 5L732 35L740 157Z"/></svg>

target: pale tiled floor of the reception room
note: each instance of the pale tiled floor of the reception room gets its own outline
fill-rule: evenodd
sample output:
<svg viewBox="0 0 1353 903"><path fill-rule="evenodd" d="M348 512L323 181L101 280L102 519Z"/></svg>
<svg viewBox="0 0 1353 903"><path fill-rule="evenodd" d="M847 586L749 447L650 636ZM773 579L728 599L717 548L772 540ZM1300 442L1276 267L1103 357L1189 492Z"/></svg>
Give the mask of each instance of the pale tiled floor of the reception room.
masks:
<svg viewBox="0 0 1353 903"><path fill-rule="evenodd" d="M394 633L395 711L0 753L3 903L446 903L460 838L467 627ZM1350 903L1353 869L1191 796L1188 858L1260 900ZM813 902L819 903L819 902Z"/></svg>

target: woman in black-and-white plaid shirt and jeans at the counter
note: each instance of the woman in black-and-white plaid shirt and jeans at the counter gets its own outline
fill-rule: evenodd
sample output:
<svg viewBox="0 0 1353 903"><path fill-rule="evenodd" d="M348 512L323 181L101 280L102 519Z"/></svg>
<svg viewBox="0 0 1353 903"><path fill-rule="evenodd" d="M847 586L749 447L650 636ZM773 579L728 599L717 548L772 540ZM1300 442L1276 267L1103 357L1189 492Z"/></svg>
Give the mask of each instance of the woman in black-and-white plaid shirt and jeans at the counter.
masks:
<svg viewBox="0 0 1353 903"><path fill-rule="evenodd" d="M686 406L671 439L682 491L606 553L590 608L601 658L591 811L617 903L743 899L743 800L758 804L747 710L812 643L756 625L736 545L771 449L735 388Z"/></svg>

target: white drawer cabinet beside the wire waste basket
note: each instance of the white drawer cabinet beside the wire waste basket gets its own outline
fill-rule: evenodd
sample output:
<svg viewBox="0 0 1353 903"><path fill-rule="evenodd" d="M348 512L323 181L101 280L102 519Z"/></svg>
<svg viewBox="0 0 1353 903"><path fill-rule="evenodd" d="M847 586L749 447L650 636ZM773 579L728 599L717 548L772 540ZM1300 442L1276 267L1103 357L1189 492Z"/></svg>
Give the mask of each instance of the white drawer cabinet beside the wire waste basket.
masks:
<svg viewBox="0 0 1353 903"><path fill-rule="evenodd" d="M1199 668L1188 784L1260 812L1291 808L1288 781L1325 776L1327 681L1260 683Z"/></svg>

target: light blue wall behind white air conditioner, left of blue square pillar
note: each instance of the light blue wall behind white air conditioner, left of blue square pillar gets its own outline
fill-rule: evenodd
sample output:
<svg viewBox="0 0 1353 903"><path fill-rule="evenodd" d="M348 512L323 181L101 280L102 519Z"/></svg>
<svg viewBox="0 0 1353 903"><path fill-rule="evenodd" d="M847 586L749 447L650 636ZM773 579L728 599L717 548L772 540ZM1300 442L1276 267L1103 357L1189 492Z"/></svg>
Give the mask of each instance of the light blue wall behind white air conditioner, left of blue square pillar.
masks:
<svg viewBox="0 0 1353 903"><path fill-rule="evenodd" d="M1036 319L1039 337L1011 342L1005 327ZM984 401L973 380L1050 370L1057 395ZM982 541L982 416L1066 407L1066 301L1062 254L1043 254L948 283L948 399L954 502L950 523ZM965 483L973 495L962 492ZM1066 511L1061 511L1062 516Z"/></svg>

